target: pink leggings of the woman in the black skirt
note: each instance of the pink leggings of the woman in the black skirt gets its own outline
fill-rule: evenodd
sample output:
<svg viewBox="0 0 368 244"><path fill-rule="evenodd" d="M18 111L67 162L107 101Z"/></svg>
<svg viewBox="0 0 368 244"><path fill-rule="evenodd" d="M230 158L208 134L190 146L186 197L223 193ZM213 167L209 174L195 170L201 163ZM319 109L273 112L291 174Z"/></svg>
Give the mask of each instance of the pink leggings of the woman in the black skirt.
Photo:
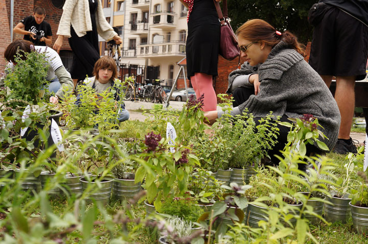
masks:
<svg viewBox="0 0 368 244"><path fill-rule="evenodd" d="M217 109L217 97L215 89L212 86L212 76L203 73L194 73L191 77L191 83L197 98L204 93L203 111L213 111Z"/></svg>

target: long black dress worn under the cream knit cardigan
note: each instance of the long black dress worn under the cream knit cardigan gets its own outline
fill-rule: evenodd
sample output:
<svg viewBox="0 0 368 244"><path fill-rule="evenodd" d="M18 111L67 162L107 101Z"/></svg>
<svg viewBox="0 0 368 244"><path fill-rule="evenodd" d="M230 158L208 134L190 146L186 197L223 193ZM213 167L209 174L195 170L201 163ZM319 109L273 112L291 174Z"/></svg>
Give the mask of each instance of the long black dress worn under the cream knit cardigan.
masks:
<svg viewBox="0 0 368 244"><path fill-rule="evenodd" d="M86 76L93 77L95 63L100 58L95 17L97 5L97 0L89 0L89 14L92 23L91 31L87 31L84 36L79 37L71 26L71 38L68 38L68 41L73 51L72 79L84 80Z"/></svg>

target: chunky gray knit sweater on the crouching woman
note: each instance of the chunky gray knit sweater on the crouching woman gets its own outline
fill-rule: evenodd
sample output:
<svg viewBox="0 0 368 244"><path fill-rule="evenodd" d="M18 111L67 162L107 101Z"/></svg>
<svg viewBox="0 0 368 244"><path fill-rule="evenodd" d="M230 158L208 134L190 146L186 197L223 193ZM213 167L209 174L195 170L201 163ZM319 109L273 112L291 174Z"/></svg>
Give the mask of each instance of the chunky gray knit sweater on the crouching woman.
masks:
<svg viewBox="0 0 368 244"><path fill-rule="evenodd" d="M331 150L338 136L340 113L337 104L314 69L295 50L283 41L272 48L267 60L258 66L244 63L229 75L228 89L237 76L256 73L259 75L260 91L251 95L238 110L248 108L255 117L264 117L270 111L275 116L299 118L312 114L324 128L320 130L328 137L323 140ZM245 84L252 86L252 84ZM321 138L320 138L321 139Z"/></svg>

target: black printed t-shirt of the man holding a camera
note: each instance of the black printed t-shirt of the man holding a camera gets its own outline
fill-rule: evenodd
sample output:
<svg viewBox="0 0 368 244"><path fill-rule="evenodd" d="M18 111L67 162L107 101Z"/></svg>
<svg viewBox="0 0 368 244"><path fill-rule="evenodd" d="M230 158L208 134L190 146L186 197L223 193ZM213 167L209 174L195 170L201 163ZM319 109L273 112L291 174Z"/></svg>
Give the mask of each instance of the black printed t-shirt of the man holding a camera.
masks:
<svg viewBox="0 0 368 244"><path fill-rule="evenodd" d="M25 25L25 30L26 31L30 31L33 32L35 34L39 34L39 37L48 37L48 36L52 36L52 31L51 31L51 26L48 22L46 21L42 21L39 25L36 23L36 20L34 19L34 17L28 16L24 19L22 19L20 21L21 23L23 23L23 25ZM24 38L27 41L32 41L35 45L38 46L45 46L46 43L44 41L39 41L39 39L37 38L37 40L33 40L33 38L30 37L30 35L25 35Z"/></svg>

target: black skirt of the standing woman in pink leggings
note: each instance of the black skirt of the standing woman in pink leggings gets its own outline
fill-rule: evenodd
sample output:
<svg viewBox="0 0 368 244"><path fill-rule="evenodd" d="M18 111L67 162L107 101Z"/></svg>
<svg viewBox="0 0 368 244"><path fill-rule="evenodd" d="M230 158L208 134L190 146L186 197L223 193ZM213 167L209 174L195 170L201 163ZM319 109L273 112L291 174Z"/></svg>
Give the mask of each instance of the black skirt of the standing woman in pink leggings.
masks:
<svg viewBox="0 0 368 244"><path fill-rule="evenodd" d="M186 45L188 79L194 73L217 76L220 22L213 0L194 0Z"/></svg>

